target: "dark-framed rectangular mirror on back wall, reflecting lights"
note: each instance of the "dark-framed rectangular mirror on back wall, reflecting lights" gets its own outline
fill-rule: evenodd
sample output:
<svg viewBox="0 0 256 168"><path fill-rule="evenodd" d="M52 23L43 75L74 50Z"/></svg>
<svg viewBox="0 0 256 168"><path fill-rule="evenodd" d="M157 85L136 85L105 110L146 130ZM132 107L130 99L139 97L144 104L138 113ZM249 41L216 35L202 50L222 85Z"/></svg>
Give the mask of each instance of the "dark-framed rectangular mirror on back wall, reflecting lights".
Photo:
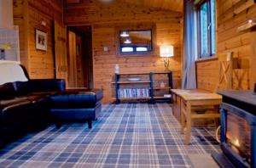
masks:
<svg viewBox="0 0 256 168"><path fill-rule="evenodd" d="M119 31L121 53L150 53L152 48L152 31Z"/></svg>

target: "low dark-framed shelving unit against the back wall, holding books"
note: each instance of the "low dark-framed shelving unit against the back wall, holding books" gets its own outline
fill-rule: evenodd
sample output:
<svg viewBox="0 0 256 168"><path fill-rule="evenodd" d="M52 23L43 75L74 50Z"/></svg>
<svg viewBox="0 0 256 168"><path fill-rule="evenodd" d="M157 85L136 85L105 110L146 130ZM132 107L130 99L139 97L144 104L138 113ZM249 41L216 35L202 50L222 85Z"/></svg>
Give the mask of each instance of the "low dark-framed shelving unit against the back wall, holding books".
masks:
<svg viewBox="0 0 256 168"><path fill-rule="evenodd" d="M154 83L154 76L157 75L166 75L168 86L160 87L155 85ZM142 78L140 81L128 81L128 78L131 76L139 76ZM122 100L123 101L135 101L135 100L148 100L149 103L155 103L156 100L170 100L171 98L167 98L164 95L157 95L156 92L160 91L167 91L166 93L171 94L172 89L172 71L170 72L148 72L148 73L119 73L115 74L114 81L112 82L115 87L115 102L119 104ZM133 85L133 87L131 87ZM146 87L142 87L145 85ZM121 88L125 87L125 88ZM134 87L135 86L135 87ZM126 89L126 90L125 90ZM142 91L140 91L140 89ZM139 90L139 92L137 92ZM120 92L125 91L125 96L120 96ZM141 95L147 96L137 96Z"/></svg>

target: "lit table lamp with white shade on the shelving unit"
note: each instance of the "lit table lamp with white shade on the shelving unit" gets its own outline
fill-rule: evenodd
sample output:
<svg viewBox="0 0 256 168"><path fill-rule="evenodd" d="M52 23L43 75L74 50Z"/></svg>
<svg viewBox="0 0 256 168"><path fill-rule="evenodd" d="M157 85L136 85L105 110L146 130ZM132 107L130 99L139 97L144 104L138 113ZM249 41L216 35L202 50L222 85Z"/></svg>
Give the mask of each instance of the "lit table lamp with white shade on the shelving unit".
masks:
<svg viewBox="0 0 256 168"><path fill-rule="evenodd" d="M166 70L169 69L170 58L174 56L174 48L172 45L160 46L160 58L164 60Z"/></svg>

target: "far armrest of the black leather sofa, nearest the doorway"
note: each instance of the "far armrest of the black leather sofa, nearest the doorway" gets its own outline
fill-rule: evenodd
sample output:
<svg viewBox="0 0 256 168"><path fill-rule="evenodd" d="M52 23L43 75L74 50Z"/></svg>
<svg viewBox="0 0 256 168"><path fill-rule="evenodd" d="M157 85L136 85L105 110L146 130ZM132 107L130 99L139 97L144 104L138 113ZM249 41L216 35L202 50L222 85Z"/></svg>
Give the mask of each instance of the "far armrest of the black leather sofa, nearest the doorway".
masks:
<svg viewBox="0 0 256 168"><path fill-rule="evenodd" d="M31 92L65 91L66 83L63 79L34 79L29 81Z"/></svg>

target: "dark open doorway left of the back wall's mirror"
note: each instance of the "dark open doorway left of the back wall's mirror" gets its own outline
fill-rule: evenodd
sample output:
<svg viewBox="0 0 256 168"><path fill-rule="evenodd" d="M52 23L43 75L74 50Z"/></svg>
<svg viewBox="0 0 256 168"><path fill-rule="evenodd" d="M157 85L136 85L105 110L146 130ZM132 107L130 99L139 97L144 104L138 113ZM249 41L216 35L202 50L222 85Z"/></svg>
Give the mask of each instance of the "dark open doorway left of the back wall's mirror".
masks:
<svg viewBox="0 0 256 168"><path fill-rule="evenodd" d="M68 87L93 88L91 26L69 26L67 30Z"/></svg>

